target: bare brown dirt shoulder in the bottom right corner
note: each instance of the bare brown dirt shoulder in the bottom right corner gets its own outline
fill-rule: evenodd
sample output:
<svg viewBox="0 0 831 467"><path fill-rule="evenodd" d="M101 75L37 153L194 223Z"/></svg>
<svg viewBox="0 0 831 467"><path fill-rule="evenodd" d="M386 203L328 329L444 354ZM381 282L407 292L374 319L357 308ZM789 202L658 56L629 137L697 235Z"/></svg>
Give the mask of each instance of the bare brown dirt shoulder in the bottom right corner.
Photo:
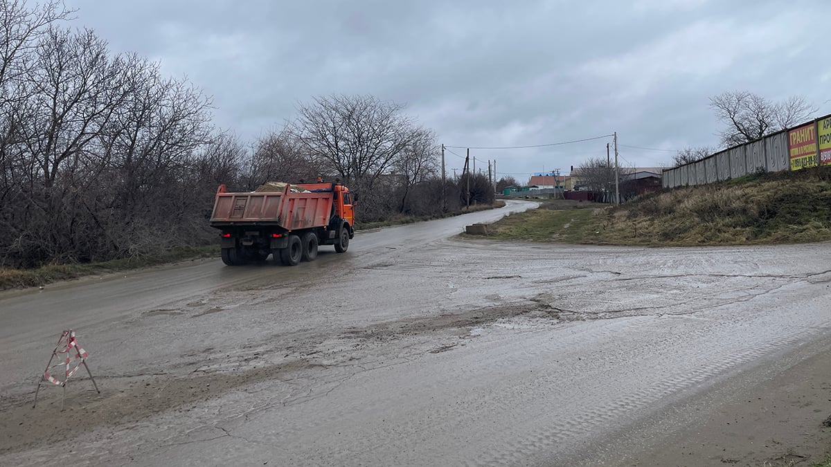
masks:
<svg viewBox="0 0 831 467"><path fill-rule="evenodd" d="M772 371L771 379L745 390L733 388L715 389L730 393L721 404L693 401L701 411L686 430L619 465L784 467L824 460L831 448L831 428L824 425L831 415L831 350Z"/></svg>

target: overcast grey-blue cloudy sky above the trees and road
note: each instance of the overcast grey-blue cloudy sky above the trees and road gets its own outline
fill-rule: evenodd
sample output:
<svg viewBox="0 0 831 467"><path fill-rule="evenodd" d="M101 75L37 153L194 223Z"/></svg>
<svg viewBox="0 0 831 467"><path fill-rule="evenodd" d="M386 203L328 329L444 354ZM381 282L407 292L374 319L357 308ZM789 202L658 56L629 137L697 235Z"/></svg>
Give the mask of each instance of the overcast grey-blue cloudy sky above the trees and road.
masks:
<svg viewBox="0 0 831 467"><path fill-rule="evenodd" d="M617 131L622 165L668 165L716 145L709 98L805 96L831 112L821 0L66 0L73 27L138 52L213 96L214 121L244 140L312 96L371 94L454 146L544 145ZM471 150L520 182L612 138ZM464 149L452 149L464 155ZM447 153L447 167L464 160Z"/></svg>

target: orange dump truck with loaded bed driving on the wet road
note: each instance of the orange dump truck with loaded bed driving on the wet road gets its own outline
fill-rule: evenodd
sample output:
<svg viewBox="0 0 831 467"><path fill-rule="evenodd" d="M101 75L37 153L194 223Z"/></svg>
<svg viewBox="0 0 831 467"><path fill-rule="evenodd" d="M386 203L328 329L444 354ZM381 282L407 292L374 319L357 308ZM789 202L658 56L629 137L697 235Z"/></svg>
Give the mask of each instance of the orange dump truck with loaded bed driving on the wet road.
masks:
<svg viewBox="0 0 831 467"><path fill-rule="evenodd" d="M257 191L229 193L219 185L210 225L222 232L229 266L274 261L295 266L317 257L318 245L349 248L355 222L352 194L342 184L269 182Z"/></svg>

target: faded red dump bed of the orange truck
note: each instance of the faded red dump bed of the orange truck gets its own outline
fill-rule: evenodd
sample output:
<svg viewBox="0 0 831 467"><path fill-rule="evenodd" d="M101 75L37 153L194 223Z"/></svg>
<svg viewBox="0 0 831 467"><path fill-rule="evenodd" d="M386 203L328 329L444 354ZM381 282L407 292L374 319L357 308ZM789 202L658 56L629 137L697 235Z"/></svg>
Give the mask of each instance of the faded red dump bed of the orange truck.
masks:
<svg viewBox="0 0 831 467"><path fill-rule="evenodd" d="M287 230L327 226L332 214L332 184L314 184L312 190L301 192L293 191L293 186L297 187L286 184L282 192L253 193L227 193L220 187L210 224L276 225Z"/></svg>

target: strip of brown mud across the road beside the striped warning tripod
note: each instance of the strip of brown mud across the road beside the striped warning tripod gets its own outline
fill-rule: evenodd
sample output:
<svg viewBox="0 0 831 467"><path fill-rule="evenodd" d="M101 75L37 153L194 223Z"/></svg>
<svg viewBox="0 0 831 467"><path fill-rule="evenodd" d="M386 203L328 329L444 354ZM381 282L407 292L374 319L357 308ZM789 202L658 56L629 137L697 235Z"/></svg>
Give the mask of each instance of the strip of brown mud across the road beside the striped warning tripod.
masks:
<svg viewBox="0 0 831 467"><path fill-rule="evenodd" d="M209 306L207 303L200 305ZM317 396L325 396L343 381L363 371L406 362L413 355L422 355L435 348L449 351L458 345L430 345L429 341L435 338L431 334L450 331L449 337L461 337L468 334L466 330L470 327L526 314L536 308L536 304L530 303L519 307L484 307L467 312L443 313L437 317L402 319L370 327L352 327L334 334L311 334L303 337L299 343L248 344L243 346L241 351L234 352L233 356L212 356L215 355L215 349L206 347L204 351L184 355L186 361L176 364L169 372L96 375L96 380L103 383L101 394L86 388L86 385L90 384L86 377L73 379L71 385L67 386L64 411L57 409L61 404L61 396L57 391L50 391L52 387L42 388L46 391L41 391L42 395L36 408L31 406L32 395L29 393L6 396L0 400L0 410L3 413L3 417L0 418L0 455L72 440L79 432L103 425L136 423L167 411L187 412L196 404L263 381L291 380L302 371L319 371L332 366L357 369L347 370L347 376L316 378L323 380L322 386L326 390L322 395L315 395L312 388L303 391L302 394L283 396L273 405L285 406L308 401ZM173 312L174 310L165 309L150 312L150 316L170 315ZM402 337L418 335L430 335L430 339L426 343L420 342L421 345L401 348L397 355L396 352L391 352L391 357L383 360L373 360L370 355L366 355L366 349L390 347ZM445 334L445 337L448 335ZM332 344L333 340L336 344L341 342L341 345L335 346L341 348L327 349L327 344ZM370 361L365 361L365 365L359 365L353 361L356 360L355 354L360 355L357 360L368 357ZM271 364L268 359L283 362ZM252 365L258 366L251 367ZM335 378L334 381L332 377ZM75 425L78 430L65 429L71 425Z"/></svg>

